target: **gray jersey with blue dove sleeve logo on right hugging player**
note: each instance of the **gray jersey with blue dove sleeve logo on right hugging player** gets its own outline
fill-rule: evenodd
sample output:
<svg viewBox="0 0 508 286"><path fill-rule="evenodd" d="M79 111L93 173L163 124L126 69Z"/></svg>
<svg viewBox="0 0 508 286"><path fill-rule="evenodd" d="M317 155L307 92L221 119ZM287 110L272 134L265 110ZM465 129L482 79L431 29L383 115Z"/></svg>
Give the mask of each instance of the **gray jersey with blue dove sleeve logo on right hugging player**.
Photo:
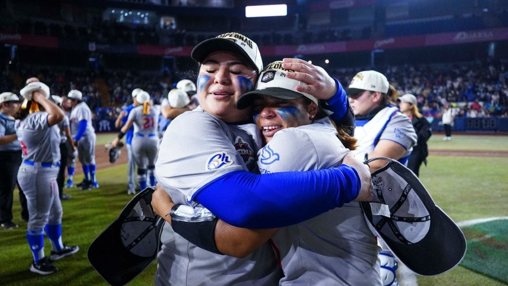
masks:
<svg viewBox="0 0 508 286"><path fill-rule="evenodd" d="M336 167L348 152L330 119L277 132L258 153L262 173ZM285 277L281 285L379 285L376 240L360 204L352 202L298 225L273 241Z"/></svg>

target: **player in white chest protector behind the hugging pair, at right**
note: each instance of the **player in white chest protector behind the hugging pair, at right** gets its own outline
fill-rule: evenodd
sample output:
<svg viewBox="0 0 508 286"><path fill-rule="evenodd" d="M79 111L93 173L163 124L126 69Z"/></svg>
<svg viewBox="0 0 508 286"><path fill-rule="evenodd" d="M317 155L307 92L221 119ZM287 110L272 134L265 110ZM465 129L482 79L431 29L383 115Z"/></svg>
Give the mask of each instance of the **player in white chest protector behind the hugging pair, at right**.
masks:
<svg viewBox="0 0 508 286"><path fill-rule="evenodd" d="M346 92L356 116L355 138L358 148L354 150L359 160L373 157L389 157L407 164L417 135L409 118L400 113L388 100L388 80L376 71L363 71L355 75ZM369 164L373 172L383 166L384 160ZM375 234L375 233L374 233ZM396 263L392 252L382 241L379 253L381 277L384 285L397 284Z"/></svg>

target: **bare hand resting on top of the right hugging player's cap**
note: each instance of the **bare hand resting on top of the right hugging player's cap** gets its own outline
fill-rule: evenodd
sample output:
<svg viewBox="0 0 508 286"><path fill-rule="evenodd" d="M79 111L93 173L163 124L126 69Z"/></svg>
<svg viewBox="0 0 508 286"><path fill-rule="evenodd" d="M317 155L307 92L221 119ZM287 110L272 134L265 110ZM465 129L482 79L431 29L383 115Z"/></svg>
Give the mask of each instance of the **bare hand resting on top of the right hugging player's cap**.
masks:
<svg viewBox="0 0 508 286"><path fill-rule="evenodd" d="M284 69L295 71L294 73L287 73L288 78L307 84L306 86L297 86L297 91L312 94L312 96L321 100L331 99L337 91L335 81L323 68L316 67L299 58L284 58L282 61Z"/></svg>

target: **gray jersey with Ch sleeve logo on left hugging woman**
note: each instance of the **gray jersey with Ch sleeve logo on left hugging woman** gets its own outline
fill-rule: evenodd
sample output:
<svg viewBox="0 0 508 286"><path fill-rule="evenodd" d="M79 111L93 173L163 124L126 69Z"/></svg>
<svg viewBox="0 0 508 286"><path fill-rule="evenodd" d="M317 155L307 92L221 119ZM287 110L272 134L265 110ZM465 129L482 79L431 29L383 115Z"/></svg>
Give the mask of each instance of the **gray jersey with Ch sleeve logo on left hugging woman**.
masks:
<svg viewBox="0 0 508 286"><path fill-rule="evenodd" d="M187 204L213 179L256 167L260 143L252 136L256 133L254 124L226 124L201 108L187 111L173 120L164 134L164 152L160 152L155 165L157 182L175 203ZM217 255L175 234L167 223L161 242L157 285L274 285L281 277L268 244L241 259Z"/></svg>

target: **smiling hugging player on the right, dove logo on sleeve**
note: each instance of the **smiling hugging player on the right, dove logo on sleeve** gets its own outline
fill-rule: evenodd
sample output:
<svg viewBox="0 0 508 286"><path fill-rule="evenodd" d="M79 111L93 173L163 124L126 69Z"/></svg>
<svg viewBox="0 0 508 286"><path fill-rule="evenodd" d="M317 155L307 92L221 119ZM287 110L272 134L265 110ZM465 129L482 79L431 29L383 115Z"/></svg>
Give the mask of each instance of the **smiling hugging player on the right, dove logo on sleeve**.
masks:
<svg viewBox="0 0 508 286"><path fill-rule="evenodd" d="M318 170L350 162L353 155L344 145L354 149L356 140L336 129L315 97L295 91L305 83L287 78L293 71L282 69L281 63L268 65L257 90L245 93L237 103L241 109L253 106L267 142L258 152L259 172ZM346 154L350 157L344 160ZM243 257L271 237L284 272L279 285L381 284L377 243L358 202L277 230L240 229L219 221L214 238L220 252Z"/></svg>

